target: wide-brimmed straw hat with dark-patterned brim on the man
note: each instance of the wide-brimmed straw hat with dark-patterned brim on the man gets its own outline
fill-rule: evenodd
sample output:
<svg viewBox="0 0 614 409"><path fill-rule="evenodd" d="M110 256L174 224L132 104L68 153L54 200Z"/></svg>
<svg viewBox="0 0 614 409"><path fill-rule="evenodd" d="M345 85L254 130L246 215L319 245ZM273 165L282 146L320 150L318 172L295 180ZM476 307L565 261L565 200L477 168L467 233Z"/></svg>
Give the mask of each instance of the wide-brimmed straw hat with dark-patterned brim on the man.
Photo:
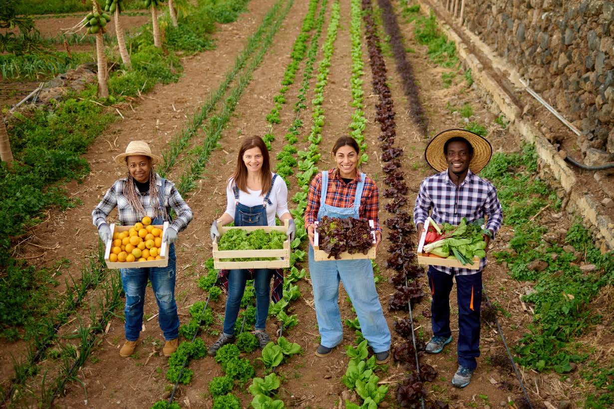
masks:
<svg viewBox="0 0 614 409"><path fill-rule="evenodd" d="M471 169L474 174L480 172L480 170L491 160L492 147L491 143L488 142L486 138L474 134L473 132L466 131L465 129L448 129L433 137L424 151L424 158L430 167L438 172L443 172L448 169L448 161L446 161L446 156L443 155L443 145L453 137L462 137L471 143L473 147L473 158L469 163L469 169Z"/></svg>

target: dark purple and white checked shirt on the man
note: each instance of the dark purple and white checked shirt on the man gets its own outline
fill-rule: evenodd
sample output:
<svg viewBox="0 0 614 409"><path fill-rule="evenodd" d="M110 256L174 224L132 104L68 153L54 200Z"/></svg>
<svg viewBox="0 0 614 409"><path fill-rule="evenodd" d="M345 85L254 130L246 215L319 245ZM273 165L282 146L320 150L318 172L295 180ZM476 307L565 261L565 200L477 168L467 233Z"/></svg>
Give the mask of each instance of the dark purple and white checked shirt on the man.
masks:
<svg viewBox="0 0 614 409"><path fill-rule="evenodd" d="M429 217L435 223L449 223L457 226L462 218L467 222L488 216L486 228L492 232L494 238L501 223L503 212L497 198L497 189L492 183L483 180L478 175L468 171L467 177L460 186L456 186L448 175L448 169L427 177L420 184L420 191L416 197L414 207L414 223L424 223ZM437 270L458 275L470 275L480 272L486 267L486 257L480 260L479 270L459 269L456 267L435 266Z"/></svg>

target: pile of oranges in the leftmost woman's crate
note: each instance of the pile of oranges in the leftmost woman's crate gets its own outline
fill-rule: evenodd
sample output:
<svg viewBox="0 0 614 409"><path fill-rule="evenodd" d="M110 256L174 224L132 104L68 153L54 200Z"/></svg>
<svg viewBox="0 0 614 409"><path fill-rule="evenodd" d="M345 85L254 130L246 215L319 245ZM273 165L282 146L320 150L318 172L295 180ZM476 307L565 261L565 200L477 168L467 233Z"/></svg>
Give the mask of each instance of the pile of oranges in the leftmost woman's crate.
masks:
<svg viewBox="0 0 614 409"><path fill-rule="evenodd" d="M134 262L160 259L162 229L153 226L149 216L136 223L130 230L114 232L109 261Z"/></svg>

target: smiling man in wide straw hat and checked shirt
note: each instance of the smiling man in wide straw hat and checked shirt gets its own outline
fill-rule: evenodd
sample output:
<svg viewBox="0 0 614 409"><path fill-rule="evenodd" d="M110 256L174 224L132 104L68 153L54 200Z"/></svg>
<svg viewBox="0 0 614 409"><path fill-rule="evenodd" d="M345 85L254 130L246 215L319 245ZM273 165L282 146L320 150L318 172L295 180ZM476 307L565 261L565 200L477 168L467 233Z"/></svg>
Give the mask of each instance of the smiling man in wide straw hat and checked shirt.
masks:
<svg viewBox="0 0 614 409"><path fill-rule="evenodd" d="M494 237L503 221L497 191L492 183L476 175L488 164L491 155L492 148L488 140L464 129L449 129L429 142L424 156L429 165L440 173L427 177L420 185L414 207L418 237L425 229L424 222L429 212L436 223L454 226L460 224L462 218L467 218L470 223L488 215L486 228ZM488 249L491 237L484 235L484 239ZM452 341L449 294L453 285L452 278L456 277L459 368L452 384L458 388L469 384L477 366L475 358L480 356L480 304L484 266L485 257L480 260L478 270L429 266L433 337L426 346L428 353L440 353Z"/></svg>

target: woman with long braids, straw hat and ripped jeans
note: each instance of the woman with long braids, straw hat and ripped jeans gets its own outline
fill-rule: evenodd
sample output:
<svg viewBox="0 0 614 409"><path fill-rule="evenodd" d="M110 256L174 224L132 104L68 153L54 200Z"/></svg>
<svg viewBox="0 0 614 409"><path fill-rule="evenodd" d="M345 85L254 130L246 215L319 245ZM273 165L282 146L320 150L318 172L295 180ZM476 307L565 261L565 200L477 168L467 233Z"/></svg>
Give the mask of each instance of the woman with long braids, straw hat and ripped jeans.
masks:
<svg viewBox="0 0 614 409"><path fill-rule="evenodd" d="M160 156L153 155L147 142L134 140L128 143L125 153L115 157L115 162L128 168L125 178L116 180L104 195L103 200L91 212L94 226L103 242L111 239L111 229L106 218L115 207L122 226L138 223L144 216L152 219L152 224L169 226L162 242L169 243L168 266L144 267L140 269L120 269L123 290L126 293L125 335L126 342L120 349L122 357L134 352L143 321L143 305L147 280L151 281L153 294L158 303L158 323L166 340L163 347L165 356L177 350L179 337L179 317L175 302L175 246L177 232L182 231L192 221L192 210L182 199L173 182L160 177L153 165L160 162ZM176 213L171 220L169 209Z"/></svg>

